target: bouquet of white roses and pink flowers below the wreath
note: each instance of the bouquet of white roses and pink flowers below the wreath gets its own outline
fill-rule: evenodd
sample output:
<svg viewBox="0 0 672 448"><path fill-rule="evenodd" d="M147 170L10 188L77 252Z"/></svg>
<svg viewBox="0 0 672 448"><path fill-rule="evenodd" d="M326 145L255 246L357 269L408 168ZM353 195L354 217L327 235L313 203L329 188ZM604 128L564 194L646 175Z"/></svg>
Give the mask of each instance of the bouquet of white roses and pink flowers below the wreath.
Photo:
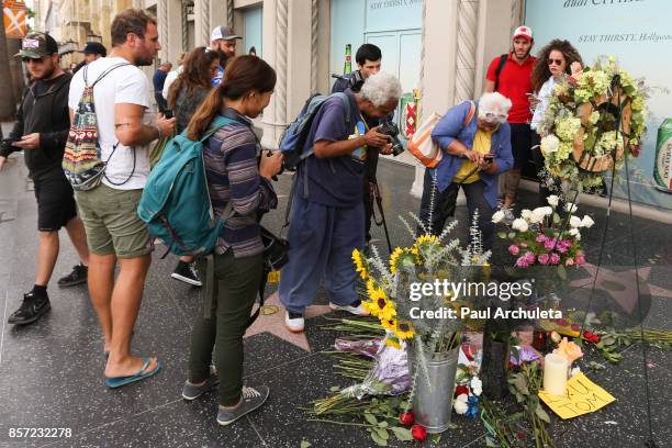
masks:
<svg viewBox="0 0 672 448"><path fill-rule="evenodd" d="M500 232L497 236L512 242L508 253L516 257L516 267L557 266L561 277L564 268L585 264L581 247L581 229L590 228L595 222L585 215L573 215L576 205L565 204L569 222L562 222L556 210L560 199L552 194L547 198L548 206L523 210L520 217L511 224L511 232ZM497 211L492 221L504 221L504 213ZM569 224L569 225L568 225Z"/></svg>

